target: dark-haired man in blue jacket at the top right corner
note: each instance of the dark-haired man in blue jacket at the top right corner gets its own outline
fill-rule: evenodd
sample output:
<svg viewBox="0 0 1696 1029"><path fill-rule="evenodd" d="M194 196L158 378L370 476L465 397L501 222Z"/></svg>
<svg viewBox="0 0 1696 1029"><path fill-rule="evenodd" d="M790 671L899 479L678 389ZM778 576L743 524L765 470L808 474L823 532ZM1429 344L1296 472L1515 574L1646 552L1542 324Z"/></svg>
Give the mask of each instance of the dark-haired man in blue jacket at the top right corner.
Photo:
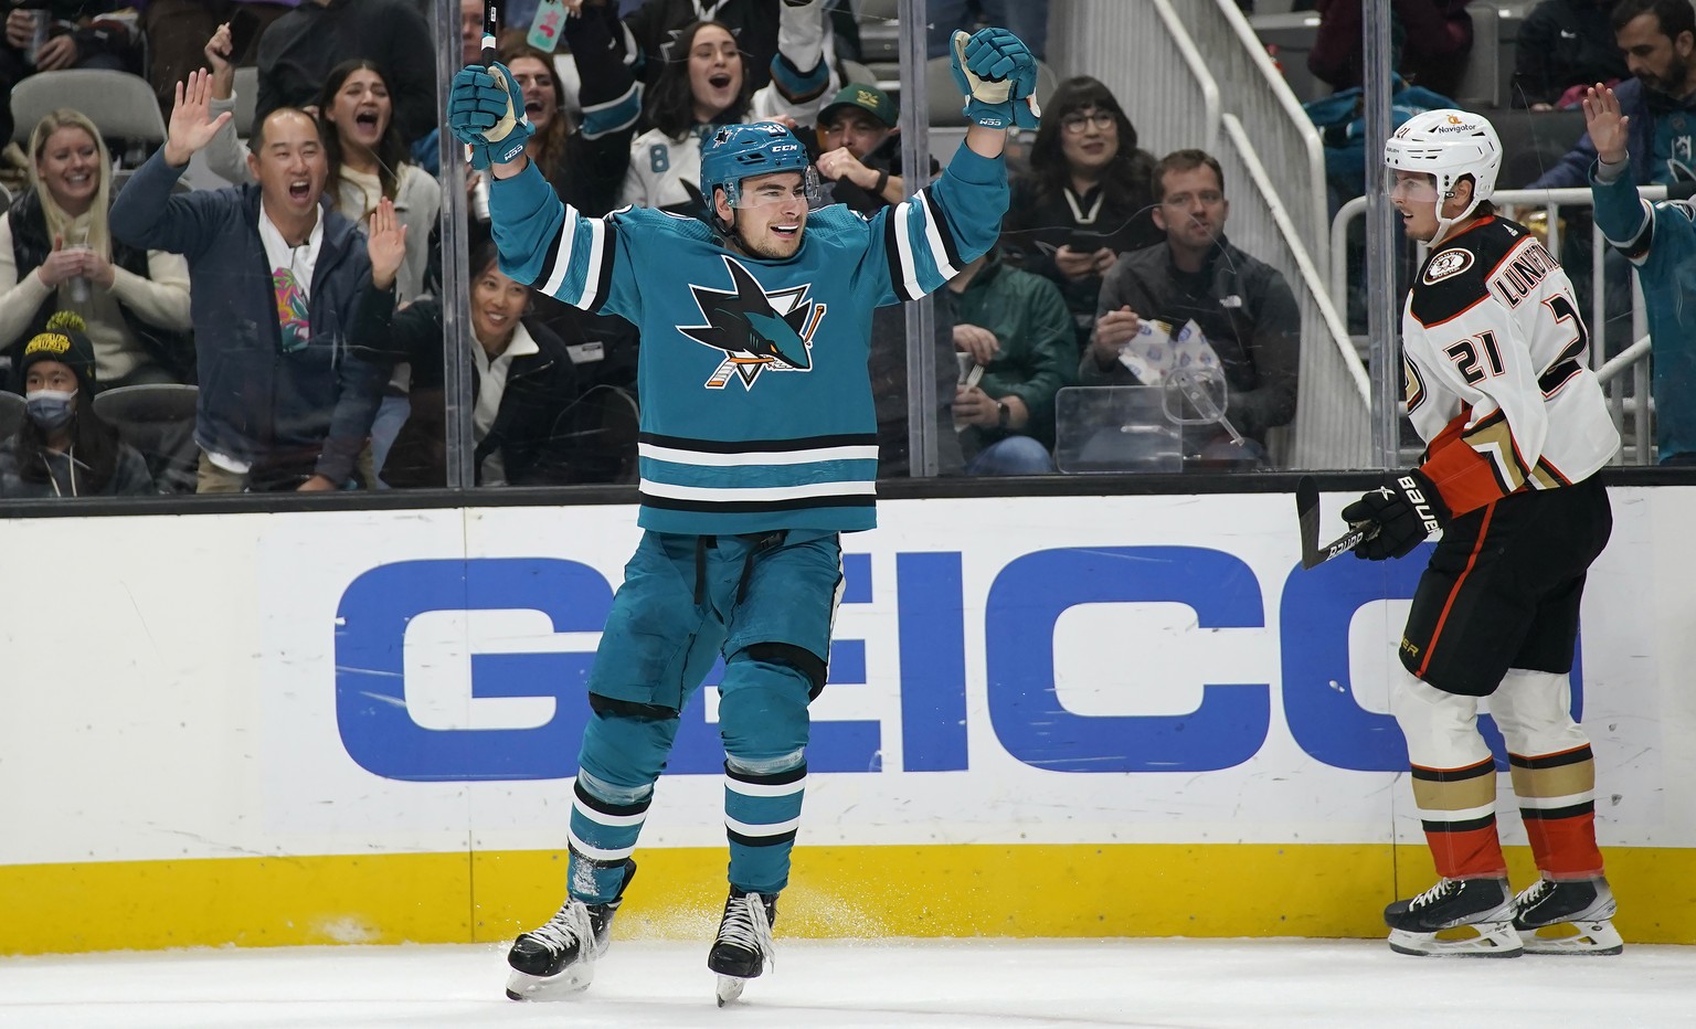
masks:
<svg viewBox="0 0 1696 1029"><path fill-rule="evenodd" d="M1613 37L1632 78L1615 95L1630 117L1626 151L1635 183L1696 181L1696 12L1689 0L1620 0ZM1531 183L1533 190L1589 185L1596 144L1577 146Z"/></svg>

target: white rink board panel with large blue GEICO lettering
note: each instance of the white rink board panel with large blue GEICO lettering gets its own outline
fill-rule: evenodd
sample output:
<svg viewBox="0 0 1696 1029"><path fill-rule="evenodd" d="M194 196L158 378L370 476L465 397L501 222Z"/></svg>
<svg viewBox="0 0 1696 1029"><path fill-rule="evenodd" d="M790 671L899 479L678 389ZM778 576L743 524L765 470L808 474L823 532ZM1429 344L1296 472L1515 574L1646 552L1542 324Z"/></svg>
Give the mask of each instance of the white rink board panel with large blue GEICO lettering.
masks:
<svg viewBox="0 0 1696 1029"><path fill-rule="evenodd" d="M1326 497L1336 527L1345 500ZM1662 681L1691 666L1693 561L1655 546L1693 507L1616 492L1591 575L1574 709L1604 843L1696 846L1677 817L1696 710ZM1284 493L889 502L880 520L845 537L802 844L1416 837L1387 668L1423 554L1303 571ZM131 522L80 522L117 580L102 603L127 609L103 639L12 622L22 665L61 688L29 731L0 729L5 765L49 793L66 763L109 785L70 822L0 798L42 822L7 834L7 861L563 846L634 509ZM717 675L682 715L646 846L722 843ZM119 727L80 729L97 712Z"/></svg>

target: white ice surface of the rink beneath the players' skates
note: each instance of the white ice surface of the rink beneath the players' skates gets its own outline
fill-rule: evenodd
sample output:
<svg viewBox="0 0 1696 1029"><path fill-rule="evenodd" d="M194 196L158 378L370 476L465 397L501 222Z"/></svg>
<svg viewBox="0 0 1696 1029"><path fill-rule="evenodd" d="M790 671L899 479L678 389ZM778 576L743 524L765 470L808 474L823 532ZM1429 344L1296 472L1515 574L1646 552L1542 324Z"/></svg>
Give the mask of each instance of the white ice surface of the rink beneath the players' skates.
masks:
<svg viewBox="0 0 1696 1029"><path fill-rule="evenodd" d="M848 1029L1696 1026L1696 948L1404 958L1382 941L778 939L719 1010L707 944L617 941L575 1000L504 997L505 946L280 948L0 959L0 1026Z"/></svg>

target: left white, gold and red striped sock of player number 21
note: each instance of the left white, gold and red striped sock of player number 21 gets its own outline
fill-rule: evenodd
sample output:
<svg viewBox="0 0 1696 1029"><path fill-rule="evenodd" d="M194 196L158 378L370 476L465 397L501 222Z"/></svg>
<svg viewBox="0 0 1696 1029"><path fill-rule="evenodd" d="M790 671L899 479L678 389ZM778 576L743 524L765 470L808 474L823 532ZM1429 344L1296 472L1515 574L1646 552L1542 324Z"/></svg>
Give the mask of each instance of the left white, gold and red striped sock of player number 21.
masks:
<svg viewBox="0 0 1696 1029"><path fill-rule="evenodd" d="M1445 693L1392 666L1391 710L1408 741L1413 800L1443 878L1504 876L1496 834L1496 763L1477 731L1477 698Z"/></svg>

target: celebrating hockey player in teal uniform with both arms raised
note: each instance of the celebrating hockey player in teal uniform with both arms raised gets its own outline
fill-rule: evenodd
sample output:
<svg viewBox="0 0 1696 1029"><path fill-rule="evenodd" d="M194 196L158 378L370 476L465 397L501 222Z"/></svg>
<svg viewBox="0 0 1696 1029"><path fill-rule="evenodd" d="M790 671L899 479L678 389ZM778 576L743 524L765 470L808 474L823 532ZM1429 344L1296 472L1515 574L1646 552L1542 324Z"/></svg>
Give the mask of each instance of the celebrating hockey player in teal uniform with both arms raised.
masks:
<svg viewBox="0 0 1696 1029"><path fill-rule="evenodd" d="M500 64L455 76L448 124L490 166L500 268L641 331L641 544L624 568L578 754L566 900L512 944L507 995L589 985L678 727L724 656L729 898L707 966L719 1004L772 956L806 790L807 704L824 688L840 532L875 524L872 310L945 285L994 244L1006 129L1036 127L1036 61L1004 29L955 36L972 122L943 176L865 219L809 212L817 176L773 122L707 142L711 220L560 203L524 159L524 100Z"/></svg>

